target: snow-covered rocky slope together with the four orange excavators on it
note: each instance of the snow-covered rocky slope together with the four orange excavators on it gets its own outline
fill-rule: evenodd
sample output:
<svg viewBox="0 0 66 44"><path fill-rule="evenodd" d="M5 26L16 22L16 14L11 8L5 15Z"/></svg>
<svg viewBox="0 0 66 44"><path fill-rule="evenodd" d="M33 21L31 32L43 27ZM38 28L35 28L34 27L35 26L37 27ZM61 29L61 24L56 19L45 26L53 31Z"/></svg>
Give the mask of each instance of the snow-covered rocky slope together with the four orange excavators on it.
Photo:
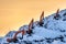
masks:
<svg viewBox="0 0 66 44"><path fill-rule="evenodd" d="M66 9L30 22L19 31L11 31L0 40L1 44L66 44ZM23 31L24 30L24 31ZM18 33L15 35L15 33ZM24 34L23 34L24 33ZM15 35L15 38L13 38ZM9 38L9 40L7 40Z"/></svg>

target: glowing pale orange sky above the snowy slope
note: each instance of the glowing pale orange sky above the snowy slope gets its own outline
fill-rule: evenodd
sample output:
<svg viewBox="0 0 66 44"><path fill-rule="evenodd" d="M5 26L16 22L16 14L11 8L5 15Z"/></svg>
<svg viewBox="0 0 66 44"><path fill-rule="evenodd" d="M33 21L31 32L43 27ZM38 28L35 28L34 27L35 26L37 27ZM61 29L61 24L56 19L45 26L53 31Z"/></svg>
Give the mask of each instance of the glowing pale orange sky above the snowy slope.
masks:
<svg viewBox="0 0 66 44"><path fill-rule="evenodd" d="M66 0L0 0L0 36L29 24L32 18L38 20L43 10L46 16L58 8L65 9Z"/></svg>

